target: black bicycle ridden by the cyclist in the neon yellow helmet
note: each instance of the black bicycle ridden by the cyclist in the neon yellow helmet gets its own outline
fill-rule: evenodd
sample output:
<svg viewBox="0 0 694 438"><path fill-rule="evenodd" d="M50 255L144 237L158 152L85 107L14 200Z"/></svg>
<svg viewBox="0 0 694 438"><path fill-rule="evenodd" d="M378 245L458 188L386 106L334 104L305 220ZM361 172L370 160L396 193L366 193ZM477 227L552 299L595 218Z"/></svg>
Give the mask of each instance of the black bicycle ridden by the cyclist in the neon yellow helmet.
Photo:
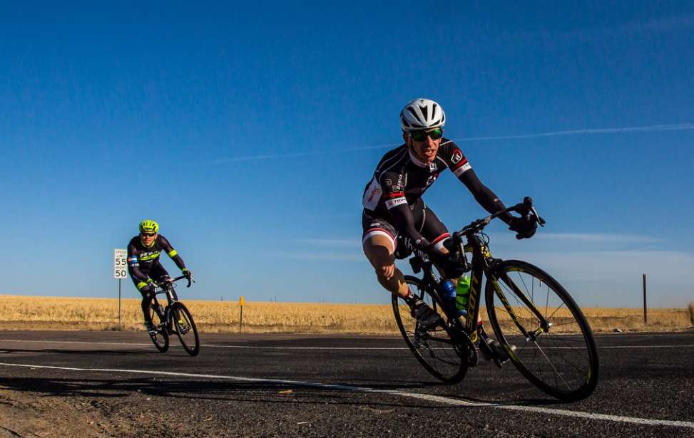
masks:
<svg viewBox="0 0 694 438"><path fill-rule="evenodd" d="M185 307L185 304L178 301L178 295L175 290L175 282L187 278L180 276L173 280L159 284L155 291L152 305L150 306L150 316L155 328L155 333L150 334L154 346L161 353L165 353L169 346L169 336L174 333L178 335L180 345L191 356L197 356L200 353L200 337L198 336L198 328L195 326L193 316ZM188 278L188 286L195 283L192 278ZM165 295L167 305L162 306L157 295Z"/></svg>

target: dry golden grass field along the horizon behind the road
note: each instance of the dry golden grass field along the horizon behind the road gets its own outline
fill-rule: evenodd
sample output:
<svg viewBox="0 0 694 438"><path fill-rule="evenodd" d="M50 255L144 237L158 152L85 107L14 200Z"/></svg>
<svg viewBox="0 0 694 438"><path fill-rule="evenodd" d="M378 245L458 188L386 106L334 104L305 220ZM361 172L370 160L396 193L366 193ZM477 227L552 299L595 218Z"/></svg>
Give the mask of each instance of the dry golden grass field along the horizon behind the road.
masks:
<svg viewBox="0 0 694 438"><path fill-rule="evenodd" d="M185 300L202 332L238 332L239 303ZM118 325L115 298L0 296L3 330L143 330L140 300L122 301ZM561 312L561 311L560 311ZM694 303L688 308L583 308L596 332L686 330L694 325ZM559 315L558 315L559 316ZM486 319L486 315L483 313ZM568 328L571 330L571 327ZM392 308L384 304L246 302L243 331L248 333L396 334Z"/></svg>

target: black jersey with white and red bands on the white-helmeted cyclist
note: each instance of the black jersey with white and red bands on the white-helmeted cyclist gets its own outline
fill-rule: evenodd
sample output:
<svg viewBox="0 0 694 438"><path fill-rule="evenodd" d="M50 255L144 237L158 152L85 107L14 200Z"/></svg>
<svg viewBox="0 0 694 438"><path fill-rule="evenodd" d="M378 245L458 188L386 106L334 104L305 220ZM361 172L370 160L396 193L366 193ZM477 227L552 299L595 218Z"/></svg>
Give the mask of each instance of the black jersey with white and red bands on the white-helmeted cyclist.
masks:
<svg viewBox="0 0 694 438"><path fill-rule="evenodd" d="M364 189L364 214L389 219L395 229L412 239L415 246L424 249L431 242L415 227L414 218L420 212L414 210L423 208L418 206L424 204L417 201L446 169L465 184L487 212L496 213L506 208L496 194L479 181L459 147L442 138L437 156L431 163L417 160L407 145L386 152ZM511 215L506 214L501 219L508 224Z"/></svg>

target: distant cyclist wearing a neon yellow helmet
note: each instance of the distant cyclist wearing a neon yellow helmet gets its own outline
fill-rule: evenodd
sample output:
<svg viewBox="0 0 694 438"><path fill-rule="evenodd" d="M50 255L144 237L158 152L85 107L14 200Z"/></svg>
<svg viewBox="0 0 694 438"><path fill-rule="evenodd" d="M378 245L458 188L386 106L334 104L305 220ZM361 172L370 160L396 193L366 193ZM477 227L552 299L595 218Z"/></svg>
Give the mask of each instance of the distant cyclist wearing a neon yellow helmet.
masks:
<svg viewBox="0 0 694 438"><path fill-rule="evenodd" d="M140 234L133 237L128 244L128 273L135 287L142 293L142 313L145 316L145 328L150 334L156 333L149 313L156 284L170 281L168 272L159 263L161 251L168 254L183 275L187 278L193 277L193 273L185 268L178 252L159 234L159 224L150 219L142 221Z"/></svg>

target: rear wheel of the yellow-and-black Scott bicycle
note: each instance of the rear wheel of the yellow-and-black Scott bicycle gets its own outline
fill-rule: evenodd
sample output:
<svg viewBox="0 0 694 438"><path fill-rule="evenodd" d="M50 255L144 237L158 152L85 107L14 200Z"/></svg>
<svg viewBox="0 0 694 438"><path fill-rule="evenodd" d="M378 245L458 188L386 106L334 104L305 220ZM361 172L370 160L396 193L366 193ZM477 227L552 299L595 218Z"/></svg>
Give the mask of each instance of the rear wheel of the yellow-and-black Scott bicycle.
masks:
<svg viewBox="0 0 694 438"><path fill-rule="evenodd" d="M405 281L413 293L416 293L445 319L438 303L422 289L419 278L405 276ZM463 380L468 368L468 350L465 344L455 341L456 335L453 329L437 325L426 331L421 330L417 319L410 314L409 306L404 299L393 295L392 304L397 327L405 343L412 350L412 354L424 369L444 383L454 384Z"/></svg>

